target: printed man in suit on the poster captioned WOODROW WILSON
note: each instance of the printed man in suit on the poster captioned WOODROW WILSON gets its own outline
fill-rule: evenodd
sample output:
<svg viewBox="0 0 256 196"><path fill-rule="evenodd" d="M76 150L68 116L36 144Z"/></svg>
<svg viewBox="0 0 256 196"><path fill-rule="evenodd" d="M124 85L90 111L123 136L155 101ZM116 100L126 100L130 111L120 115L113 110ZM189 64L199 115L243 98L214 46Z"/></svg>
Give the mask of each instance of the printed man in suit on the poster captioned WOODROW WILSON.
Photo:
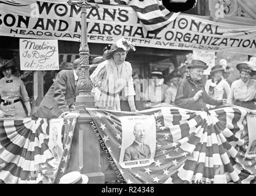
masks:
<svg viewBox="0 0 256 196"><path fill-rule="evenodd" d="M124 152L124 161L150 159L150 146L143 142L145 140L145 125L143 123L134 125L134 136L134 143L126 148Z"/></svg>

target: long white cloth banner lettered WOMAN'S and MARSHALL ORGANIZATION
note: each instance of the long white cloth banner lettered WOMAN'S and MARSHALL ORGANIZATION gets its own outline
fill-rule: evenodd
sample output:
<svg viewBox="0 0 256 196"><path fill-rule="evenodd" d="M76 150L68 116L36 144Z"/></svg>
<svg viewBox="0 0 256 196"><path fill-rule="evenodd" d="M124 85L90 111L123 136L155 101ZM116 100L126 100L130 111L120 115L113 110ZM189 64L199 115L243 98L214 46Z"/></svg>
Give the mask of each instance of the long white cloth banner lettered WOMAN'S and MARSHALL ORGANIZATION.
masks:
<svg viewBox="0 0 256 196"><path fill-rule="evenodd" d="M19 6L0 2L0 6L0 36L79 42L79 7L32 0ZM88 41L92 43L113 43L126 37L140 47L256 54L256 26L229 25L180 14L154 34L146 31L132 7L99 6L87 9Z"/></svg>

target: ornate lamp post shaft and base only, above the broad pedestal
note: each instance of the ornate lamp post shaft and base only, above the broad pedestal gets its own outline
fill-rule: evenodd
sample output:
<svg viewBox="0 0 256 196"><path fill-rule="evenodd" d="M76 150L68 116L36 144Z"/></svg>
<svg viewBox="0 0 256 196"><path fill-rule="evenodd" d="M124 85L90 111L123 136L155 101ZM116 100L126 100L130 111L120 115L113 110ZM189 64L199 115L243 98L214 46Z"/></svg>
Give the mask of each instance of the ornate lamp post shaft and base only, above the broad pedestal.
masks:
<svg viewBox="0 0 256 196"><path fill-rule="evenodd" d="M86 23L86 9L96 7L98 4L90 4L87 0L68 1L68 4L81 7L81 45L79 48L79 79L76 88L78 89L78 96L76 96L75 110L85 110L86 107L94 107L94 96L90 94L92 90L92 82L89 77L89 47L87 43L87 23Z"/></svg>

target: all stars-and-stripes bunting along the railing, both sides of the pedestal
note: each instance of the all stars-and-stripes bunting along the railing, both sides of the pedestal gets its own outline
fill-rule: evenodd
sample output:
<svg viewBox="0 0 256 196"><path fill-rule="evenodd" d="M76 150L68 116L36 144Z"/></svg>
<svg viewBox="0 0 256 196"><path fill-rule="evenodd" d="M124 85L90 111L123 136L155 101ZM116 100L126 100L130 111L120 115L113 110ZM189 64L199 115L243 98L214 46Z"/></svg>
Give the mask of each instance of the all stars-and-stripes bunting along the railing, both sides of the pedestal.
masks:
<svg viewBox="0 0 256 196"><path fill-rule="evenodd" d="M249 138L243 108L88 111L94 119L92 129L121 183L255 183L256 159L245 155ZM154 162L122 168L120 117L143 115L153 116L156 124ZM58 183L66 173L77 117L64 119L60 162L48 146L47 119L0 121L0 183Z"/></svg>

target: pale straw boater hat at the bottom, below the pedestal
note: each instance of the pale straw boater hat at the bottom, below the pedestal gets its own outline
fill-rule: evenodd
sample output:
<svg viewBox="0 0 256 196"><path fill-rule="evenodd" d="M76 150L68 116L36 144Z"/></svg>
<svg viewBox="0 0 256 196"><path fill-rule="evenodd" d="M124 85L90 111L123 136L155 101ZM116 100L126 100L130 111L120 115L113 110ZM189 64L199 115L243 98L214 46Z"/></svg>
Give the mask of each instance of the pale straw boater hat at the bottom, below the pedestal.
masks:
<svg viewBox="0 0 256 196"><path fill-rule="evenodd" d="M60 178L60 184L87 184L89 178L79 171L71 171Z"/></svg>

